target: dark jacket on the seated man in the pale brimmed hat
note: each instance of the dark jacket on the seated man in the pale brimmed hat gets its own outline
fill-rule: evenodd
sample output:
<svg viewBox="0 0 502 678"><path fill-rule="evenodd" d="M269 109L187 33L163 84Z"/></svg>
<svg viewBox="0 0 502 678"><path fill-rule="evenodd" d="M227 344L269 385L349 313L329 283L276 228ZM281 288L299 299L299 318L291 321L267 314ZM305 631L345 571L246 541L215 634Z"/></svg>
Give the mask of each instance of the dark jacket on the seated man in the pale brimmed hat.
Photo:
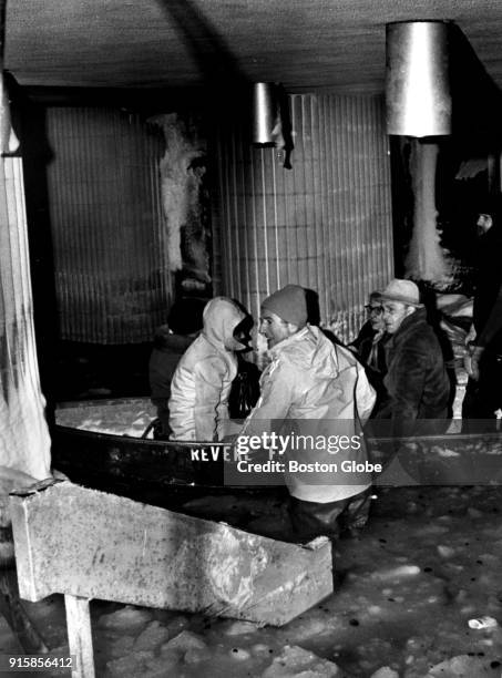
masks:
<svg viewBox="0 0 502 678"><path fill-rule="evenodd" d="M424 308L404 318L387 341L386 352L388 371L383 384L388 400L377 418L392 419L396 423L392 431L399 435L419 432L414 424L418 419L445 418L450 381Z"/></svg>

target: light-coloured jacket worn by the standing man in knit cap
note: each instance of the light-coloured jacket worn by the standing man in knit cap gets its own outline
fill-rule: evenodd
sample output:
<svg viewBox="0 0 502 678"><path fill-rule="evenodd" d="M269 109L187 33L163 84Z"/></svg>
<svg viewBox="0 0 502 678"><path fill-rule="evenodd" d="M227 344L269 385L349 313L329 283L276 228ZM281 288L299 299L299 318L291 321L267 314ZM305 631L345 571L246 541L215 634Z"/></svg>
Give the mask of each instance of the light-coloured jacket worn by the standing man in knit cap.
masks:
<svg viewBox="0 0 502 678"><path fill-rule="evenodd" d="M331 434L361 434L361 424L370 415L376 396L365 368L348 349L335 346L319 328L307 326L273 347L270 357L260 379L262 396L240 435L276 430L277 420L286 420L283 429L286 433L297 423L300 433L314 432L322 439ZM311 461L313 455L308 454ZM350 459L367 461L362 440L360 448L350 452ZM322 462L337 460L336 454L319 454ZM329 476L322 475L326 477ZM320 484L313 474L289 473L288 466L285 480L293 496L318 503L354 496L371 484L366 472L351 474L350 484L344 485L337 477L331 484Z"/></svg>

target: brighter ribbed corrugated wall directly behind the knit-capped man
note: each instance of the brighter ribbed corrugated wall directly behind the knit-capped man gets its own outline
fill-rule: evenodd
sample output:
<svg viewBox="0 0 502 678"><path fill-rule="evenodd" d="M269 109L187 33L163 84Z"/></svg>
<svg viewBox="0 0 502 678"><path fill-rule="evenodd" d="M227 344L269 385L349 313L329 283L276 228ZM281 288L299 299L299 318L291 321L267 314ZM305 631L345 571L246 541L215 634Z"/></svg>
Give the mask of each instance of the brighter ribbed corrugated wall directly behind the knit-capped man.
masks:
<svg viewBox="0 0 502 678"><path fill-rule="evenodd" d="M368 292L392 277L390 163L380 97L289 99L293 170L243 132L217 140L214 271L221 294L259 315L287 282L319 295L321 322L344 340Z"/></svg>

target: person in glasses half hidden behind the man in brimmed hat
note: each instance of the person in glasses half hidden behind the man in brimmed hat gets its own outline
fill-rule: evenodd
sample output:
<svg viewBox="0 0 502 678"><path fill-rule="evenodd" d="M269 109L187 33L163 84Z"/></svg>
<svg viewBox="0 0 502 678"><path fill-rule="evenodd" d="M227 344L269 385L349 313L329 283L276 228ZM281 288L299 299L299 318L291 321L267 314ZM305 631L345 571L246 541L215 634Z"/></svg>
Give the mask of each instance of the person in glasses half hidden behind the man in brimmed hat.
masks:
<svg viewBox="0 0 502 678"><path fill-rule="evenodd" d="M372 291L370 294L365 309L368 319L361 327L359 335L347 348L356 353L366 368L368 381L377 392L375 411L378 411L381 402L387 398L383 377L387 374L386 342L389 339L383 322L380 292Z"/></svg>

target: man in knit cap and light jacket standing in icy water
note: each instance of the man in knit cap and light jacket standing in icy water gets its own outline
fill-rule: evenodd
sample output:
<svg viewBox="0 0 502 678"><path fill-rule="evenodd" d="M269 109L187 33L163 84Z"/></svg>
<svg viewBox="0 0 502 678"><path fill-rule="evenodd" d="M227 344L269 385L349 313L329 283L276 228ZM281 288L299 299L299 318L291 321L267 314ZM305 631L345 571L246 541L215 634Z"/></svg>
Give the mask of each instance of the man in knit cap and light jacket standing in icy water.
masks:
<svg viewBox="0 0 502 678"><path fill-rule="evenodd" d="M287 458L335 462L339 459L335 449L327 450L321 443L332 443L344 432L356 441L355 449L345 455L361 465L367 462L360 432L375 403L375 391L363 367L349 350L335 346L319 328L307 323L305 290L298 285L287 285L265 299L259 331L272 360L262 374L260 398L238 440L266 431L289 435L284 439L290 446L281 461L286 462L284 475L298 540L320 534L337 537L340 530L362 527L368 517L370 473L296 472ZM313 433L315 446L294 444Z"/></svg>

